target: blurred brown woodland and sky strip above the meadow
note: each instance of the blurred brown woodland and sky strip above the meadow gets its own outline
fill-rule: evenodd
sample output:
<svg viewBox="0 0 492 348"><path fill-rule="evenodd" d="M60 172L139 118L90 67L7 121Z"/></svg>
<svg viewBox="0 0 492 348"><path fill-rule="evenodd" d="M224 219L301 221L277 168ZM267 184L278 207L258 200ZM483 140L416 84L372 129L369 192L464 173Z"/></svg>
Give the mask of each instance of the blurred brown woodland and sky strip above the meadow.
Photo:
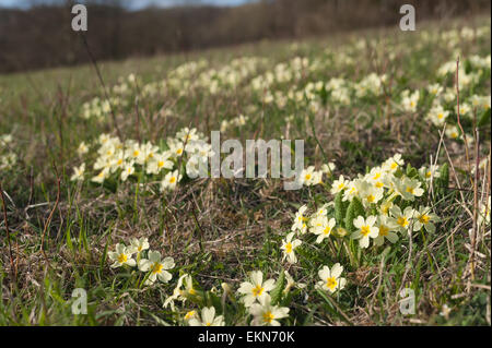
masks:
<svg viewBox="0 0 492 348"><path fill-rule="evenodd" d="M87 62L74 3L87 5L98 60L395 26L403 3L418 22L490 12L489 0L0 0L0 73Z"/></svg>

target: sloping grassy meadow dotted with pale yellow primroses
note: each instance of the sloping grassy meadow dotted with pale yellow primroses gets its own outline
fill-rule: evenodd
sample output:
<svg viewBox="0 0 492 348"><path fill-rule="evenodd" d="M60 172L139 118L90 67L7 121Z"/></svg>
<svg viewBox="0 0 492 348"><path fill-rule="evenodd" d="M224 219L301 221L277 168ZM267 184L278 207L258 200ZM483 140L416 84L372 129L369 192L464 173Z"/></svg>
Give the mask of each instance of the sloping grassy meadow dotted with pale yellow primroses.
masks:
<svg viewBox="0 0 492 348"><path fill-rule="evenodd" d="M491 325L490 27L1 75L0 325ZM302 189L194 179L211 131Z"/></svg>

